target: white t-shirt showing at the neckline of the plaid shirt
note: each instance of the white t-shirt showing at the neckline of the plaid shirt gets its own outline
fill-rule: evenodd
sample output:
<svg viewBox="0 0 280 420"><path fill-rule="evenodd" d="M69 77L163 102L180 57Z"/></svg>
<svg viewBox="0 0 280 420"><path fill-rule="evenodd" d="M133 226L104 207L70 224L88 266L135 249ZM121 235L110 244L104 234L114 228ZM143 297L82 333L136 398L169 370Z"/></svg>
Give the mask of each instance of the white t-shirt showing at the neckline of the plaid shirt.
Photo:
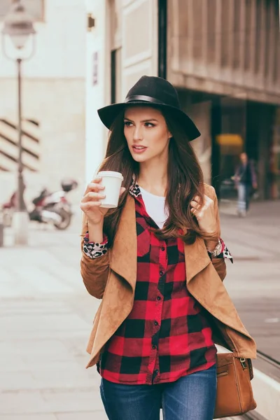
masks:
<svg viewBox="0 0 280 420"><path fill-rule="evenodd" d="M168 218L168 213L165 211L165 197L159 197L158 195L148 193L148 191L141 187L139 188L148 215L162 229Z"/></svg>

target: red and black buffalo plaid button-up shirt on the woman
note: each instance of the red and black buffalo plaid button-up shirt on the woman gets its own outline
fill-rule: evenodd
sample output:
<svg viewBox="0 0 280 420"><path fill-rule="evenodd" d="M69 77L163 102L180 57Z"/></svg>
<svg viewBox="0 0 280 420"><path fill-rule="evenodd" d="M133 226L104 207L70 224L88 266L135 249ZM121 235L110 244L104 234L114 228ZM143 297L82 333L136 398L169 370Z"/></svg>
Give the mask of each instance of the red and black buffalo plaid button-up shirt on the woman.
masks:
<svg viewBox="0 0 280 420"><path fill-rule="evenodd" d="M188 293L181 239L159 240L138 186L134 306L106 344L98 370L120 384L160 384L216 363L207 313Z"/></svg>

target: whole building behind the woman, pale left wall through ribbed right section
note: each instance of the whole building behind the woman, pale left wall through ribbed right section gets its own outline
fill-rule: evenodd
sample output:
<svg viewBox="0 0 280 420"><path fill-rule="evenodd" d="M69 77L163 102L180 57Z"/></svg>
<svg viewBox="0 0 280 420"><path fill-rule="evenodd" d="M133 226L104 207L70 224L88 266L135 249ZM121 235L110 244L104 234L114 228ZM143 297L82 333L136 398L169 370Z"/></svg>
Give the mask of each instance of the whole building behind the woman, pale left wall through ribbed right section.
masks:
<svg viewBox="0 0 280 420"><path fill-rule="evenodd" d="M106 146L96 109L123 100L143 74L166 75L200 127L193 145L218 195L234 194L231 176L246 151L260 198L280 197L278 0L87 0L87 12L96 22L87 35L91 118L94 113L87 118L87 148L98 149L94 169ZM92 85L94 65L99 80ZM90 141L96 130L104 139L99 146ZM87 168L89 178L91 158Z"/></svg>

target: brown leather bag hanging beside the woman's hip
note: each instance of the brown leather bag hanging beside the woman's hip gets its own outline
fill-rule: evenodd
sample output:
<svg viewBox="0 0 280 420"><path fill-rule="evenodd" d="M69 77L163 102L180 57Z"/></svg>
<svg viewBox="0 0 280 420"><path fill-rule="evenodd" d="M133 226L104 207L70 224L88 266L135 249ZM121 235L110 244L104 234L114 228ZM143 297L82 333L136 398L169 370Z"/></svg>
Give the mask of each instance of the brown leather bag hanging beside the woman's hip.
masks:
<svg viewBox="0 0 280 420"><path fill-rule="evenodd" d="M251 359L217 353L217 397L214 419L240 416L257 407L253 399Z"/></svg>

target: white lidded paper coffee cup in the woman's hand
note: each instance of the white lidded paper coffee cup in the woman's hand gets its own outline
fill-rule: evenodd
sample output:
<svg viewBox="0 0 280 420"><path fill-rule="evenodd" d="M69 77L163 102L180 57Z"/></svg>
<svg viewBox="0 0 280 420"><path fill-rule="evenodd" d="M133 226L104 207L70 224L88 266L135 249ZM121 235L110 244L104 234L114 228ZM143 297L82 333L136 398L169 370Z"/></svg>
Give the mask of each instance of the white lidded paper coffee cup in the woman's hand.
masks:
<svg viewBox="0 0 280 420"><path fill-rule="evenodd" d="M116 209L118 207L118 200L120 198L120 187L123 182L123 175L120 172L114 171L102 171L97 174L102 178L100 182L101 186L104 186L104 190L101 193L106 195L100 202L100 207L104 209Z"/></svg>

